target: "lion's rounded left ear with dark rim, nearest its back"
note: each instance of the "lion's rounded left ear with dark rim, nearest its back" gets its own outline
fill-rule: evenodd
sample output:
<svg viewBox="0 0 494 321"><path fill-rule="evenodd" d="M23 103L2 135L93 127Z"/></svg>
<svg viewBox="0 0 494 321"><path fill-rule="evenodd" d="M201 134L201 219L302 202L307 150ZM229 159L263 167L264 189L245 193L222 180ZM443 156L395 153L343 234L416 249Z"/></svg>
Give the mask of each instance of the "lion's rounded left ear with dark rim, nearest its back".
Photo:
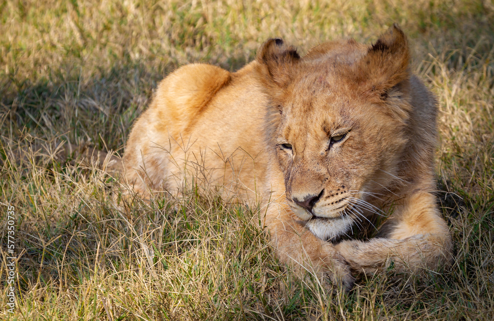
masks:
<svg viewBox="0 0 494 321"><path fill-rule="evenodd" d="M261 82L268 87L275 84L285 88L291 82L293 67L300 61L300 56L293 46L274 38L263 44L256 60Z"/></svg>

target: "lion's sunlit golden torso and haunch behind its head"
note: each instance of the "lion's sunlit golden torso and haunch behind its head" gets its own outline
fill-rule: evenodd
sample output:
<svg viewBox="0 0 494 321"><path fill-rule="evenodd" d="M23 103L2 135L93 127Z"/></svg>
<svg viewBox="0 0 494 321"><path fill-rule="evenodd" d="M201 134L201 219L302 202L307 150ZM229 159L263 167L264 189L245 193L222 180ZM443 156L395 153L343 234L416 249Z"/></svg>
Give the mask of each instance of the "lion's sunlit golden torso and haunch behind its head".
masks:
<svg viewBox="0 0 494 321"><path fill-rule="evenodd" d="M253 164L265 168L268 160L259 110L265 98L251 70L247 65L231 73L191 64L159 84L125 148L126 178L134 189L182 189L186 174L205 184L229 184L230 190L238 189L239 181L255 189Z"/></svg>

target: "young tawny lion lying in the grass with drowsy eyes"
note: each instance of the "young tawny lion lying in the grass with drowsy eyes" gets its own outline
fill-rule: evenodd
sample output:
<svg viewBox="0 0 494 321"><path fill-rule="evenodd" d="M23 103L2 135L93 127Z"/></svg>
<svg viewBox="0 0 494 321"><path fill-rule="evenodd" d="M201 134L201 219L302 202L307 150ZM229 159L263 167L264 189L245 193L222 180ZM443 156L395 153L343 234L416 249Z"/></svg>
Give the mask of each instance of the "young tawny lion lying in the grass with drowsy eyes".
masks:
<svg viewBox="0 0 494 321"><path fill-rule="evenodd" d="M236 72L183 66L135 121L124 178L142 197L192 182L260 206L282 262L346 288L390 264L438 269L452 258L433 194L438 109L409 61L393 25L372 45L331 41L303 57L269 39ZM381 221L376 237L345 238Z"/></svg>

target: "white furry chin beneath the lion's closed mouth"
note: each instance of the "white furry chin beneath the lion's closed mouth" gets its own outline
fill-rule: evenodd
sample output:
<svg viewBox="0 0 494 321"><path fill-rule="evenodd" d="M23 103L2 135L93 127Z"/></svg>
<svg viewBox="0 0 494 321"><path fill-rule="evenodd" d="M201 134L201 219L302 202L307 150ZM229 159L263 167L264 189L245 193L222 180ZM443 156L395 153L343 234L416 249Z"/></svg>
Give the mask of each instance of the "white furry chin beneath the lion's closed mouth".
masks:
<svg viewBox="0 0 494 321"><path fill-rule="evenodd" d="M353 224L353 220L347 215L337 218L316 217L311 218L305 226L315 236L324 241L331 241L338 236L347 233Z"/></svg>

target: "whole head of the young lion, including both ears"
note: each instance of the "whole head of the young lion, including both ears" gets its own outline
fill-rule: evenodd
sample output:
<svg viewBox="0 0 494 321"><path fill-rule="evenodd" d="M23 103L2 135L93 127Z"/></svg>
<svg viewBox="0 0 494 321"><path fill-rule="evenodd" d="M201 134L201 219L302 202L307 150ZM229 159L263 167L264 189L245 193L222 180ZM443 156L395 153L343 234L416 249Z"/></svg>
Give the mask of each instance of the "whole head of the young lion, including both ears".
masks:
<svg viewBox="0 0 494 321"><path fill-rule="evenodd" d="M329 42L300 57L271 39L257 56L288 204L321 239L365 219L371 193L389 190L400 175L410 139L409 59L396 26L371 46Z"/></svg>

